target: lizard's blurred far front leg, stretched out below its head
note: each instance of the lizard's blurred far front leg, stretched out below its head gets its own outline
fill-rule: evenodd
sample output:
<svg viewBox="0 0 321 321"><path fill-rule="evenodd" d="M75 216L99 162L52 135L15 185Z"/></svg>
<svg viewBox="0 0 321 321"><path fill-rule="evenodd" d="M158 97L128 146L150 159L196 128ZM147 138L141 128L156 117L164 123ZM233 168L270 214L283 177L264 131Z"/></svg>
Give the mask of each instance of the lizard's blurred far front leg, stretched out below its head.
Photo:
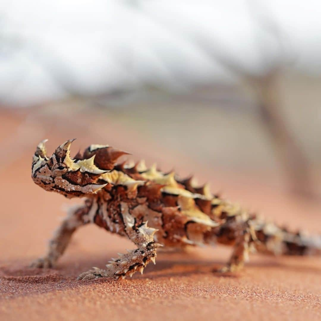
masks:
<svg viewBox="0 0 321 321"><path fill-rule="evenodd" d="M83 220L83 216L89 213L92 202L86 201L86 203L85 206L78 207L76 210L68 213L67 217L55 231L53 238L49 241L47 254L33 261L30 267L49 268L55 265L58 258L65 252L74 231L88 222Z"/></svg>

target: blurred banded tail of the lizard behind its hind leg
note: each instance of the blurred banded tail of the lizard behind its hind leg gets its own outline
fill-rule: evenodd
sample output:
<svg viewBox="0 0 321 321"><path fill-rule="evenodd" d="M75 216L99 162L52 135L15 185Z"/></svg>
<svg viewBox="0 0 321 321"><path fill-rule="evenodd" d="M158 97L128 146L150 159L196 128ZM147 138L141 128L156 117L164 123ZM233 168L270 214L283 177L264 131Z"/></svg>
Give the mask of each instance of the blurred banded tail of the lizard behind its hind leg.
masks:
<svg viewBox="0 0 321 321"><path fill-rule="evenodd" d="M256 225L256 224L255 224ZM254 226L252 232L256 250L274 255L321 255L321 236L293 233L272 223Z"/></svg>

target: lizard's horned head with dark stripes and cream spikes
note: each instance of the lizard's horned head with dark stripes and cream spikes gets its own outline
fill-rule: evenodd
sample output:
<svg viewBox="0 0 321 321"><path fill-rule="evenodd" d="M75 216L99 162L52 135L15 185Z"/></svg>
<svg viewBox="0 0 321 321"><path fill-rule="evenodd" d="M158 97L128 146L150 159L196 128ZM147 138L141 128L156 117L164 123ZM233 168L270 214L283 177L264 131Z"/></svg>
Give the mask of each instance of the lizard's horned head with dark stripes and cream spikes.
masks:
<svg viewBox="0 0 321 321"><path fill-rule="evenodd" d="M47 156L47 141L38 144L32 159L32 179L37 185L68 198L88 196L107 185L100 176L108 170L99 169L94 164L95 155L88 159L70 157L70 145L74 139L58 146L51 157Z"/></svg>

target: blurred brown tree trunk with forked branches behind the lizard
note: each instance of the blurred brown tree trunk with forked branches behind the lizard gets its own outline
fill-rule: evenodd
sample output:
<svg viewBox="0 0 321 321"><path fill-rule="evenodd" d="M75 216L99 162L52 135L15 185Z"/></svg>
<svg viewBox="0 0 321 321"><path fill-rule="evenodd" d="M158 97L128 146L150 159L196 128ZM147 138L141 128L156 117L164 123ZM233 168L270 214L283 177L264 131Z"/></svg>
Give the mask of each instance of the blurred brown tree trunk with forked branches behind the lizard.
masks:
<svg viewBox="0 0 321 321"><path fill-rule="evenodd" d="M297 56L291 50L288 35L282 32L275 21L267 19L266 11L256 1L248 0L248 8L250 16L256 23L256 41L261 55L262 71L251 72L233 61L226 55L219 41L216 43L215 52L213 52L213 43L209 46L206 39L202 39L199 37L200 35L194 36L193 41L228 71L235 74L240 83L250 86L255 94L260 120L272 138L290 191L302 197L315 197L316 192L312 184L307 157L282 115L282 101L278 84L279 75L285 71L286 67L294 64ZM267 52L264 47L266 44L262 40L266 35L272 36L272 39L276 41L278 54L273 55L271 52Z"/></svg>

